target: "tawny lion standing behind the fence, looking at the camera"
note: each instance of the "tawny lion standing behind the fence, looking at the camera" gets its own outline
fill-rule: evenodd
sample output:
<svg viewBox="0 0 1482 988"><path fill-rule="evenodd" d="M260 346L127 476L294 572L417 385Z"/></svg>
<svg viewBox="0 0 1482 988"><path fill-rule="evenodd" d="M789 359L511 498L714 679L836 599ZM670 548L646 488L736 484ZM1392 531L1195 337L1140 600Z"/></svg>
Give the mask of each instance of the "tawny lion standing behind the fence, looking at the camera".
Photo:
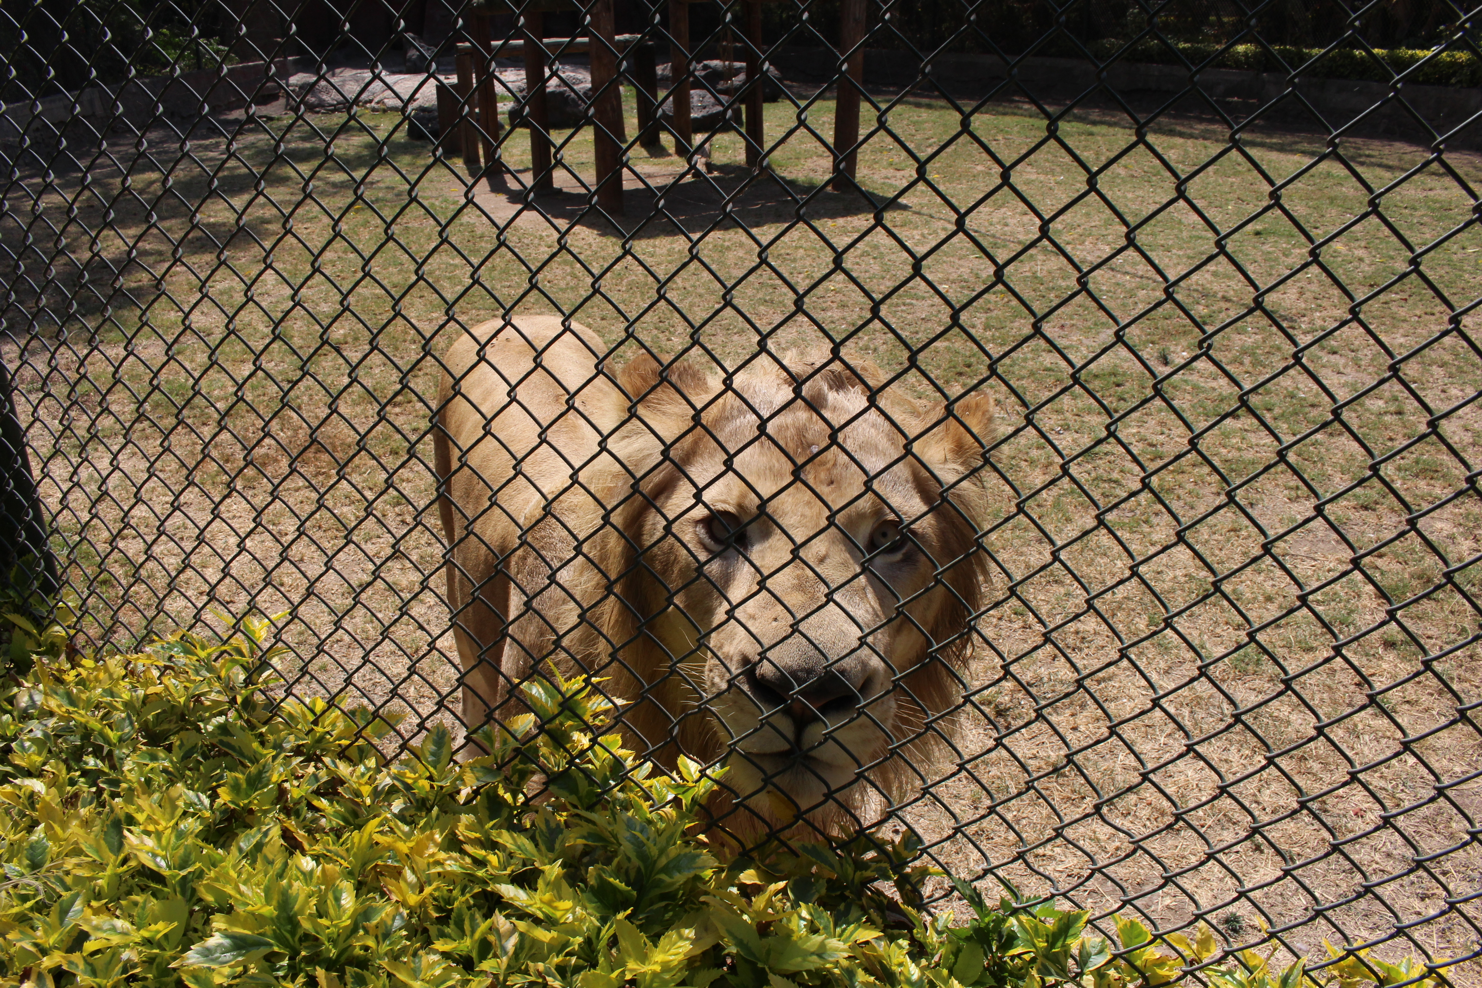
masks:
<svg viewBox="0 0 1482 988"><path fill-rule="evenodd" d="M541 670L588 672L637 751L728 767L728 825L860 825L962 701L991 397L919 403L828 357L762 353L717 379L606 353L519 317L445 357L465 727L520 712Z"/></svg>

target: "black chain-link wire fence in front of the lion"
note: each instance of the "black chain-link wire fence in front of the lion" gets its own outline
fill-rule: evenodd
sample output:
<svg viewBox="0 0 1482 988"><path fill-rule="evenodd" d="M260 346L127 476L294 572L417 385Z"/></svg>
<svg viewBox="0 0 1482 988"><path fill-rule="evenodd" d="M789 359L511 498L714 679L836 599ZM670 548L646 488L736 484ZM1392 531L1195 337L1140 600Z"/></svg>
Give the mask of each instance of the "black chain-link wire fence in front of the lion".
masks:
<svg viewBox="0 0 1482 988"><path fill-rule="evenodd" d="M599 670L742 838L1476 958L1476 16L10 4L4 561L403 742Z"/></svg>

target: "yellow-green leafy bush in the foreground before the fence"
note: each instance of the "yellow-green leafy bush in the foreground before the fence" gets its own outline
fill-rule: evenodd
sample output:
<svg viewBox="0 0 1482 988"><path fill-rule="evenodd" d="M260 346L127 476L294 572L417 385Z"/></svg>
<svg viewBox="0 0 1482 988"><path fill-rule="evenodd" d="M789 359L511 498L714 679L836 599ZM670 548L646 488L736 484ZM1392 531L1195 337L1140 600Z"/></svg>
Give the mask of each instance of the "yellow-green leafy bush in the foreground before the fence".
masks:
<svg viewBox="0 0 1482 988"><path fill-rule="evenodd" d="M908 840L737 858L697 835L713 784L639 764L584 681L455 761L448 730L388 763L391 724L276 708L265 622L67 658L55 630L0 692L0 978L31 988L802 988L1162 985L1217 947L1086 912L920 907ZM65 635L61 635L65 640ZM15 668L15 667L12 667ZM531 792L541 791L541 798ZM1337 954L1335 954L1337 955ZM1312 988L1252 952L1218 988ZM1347 955L1325 979L1435 981Z"/></svg>

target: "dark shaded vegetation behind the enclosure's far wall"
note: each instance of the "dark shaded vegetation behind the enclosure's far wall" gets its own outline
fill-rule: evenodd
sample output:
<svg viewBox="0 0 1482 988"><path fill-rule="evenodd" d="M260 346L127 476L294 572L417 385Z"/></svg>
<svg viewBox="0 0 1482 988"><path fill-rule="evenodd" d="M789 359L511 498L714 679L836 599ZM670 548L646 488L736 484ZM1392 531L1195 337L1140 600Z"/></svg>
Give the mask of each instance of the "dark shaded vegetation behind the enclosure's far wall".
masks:
<svg viewBox="0 0 1482 988"><path fill-rule="evenodd" d="M368 55L400 47L402 33L434 28L431 4L445 0L27 0L0 7L6 101L114 84L132 74L212 68L222 61L326 55L348 44ZM619 30L637 31L662 0L618 0ZM769 3L769 43L805 47L837 36L837 0ZM722 34L725 9L694 4L694 37ZM547 13L547 36L578 30L578 12ZM448 19L448 18L445 18ZM871 47L947 49L1017 55L1202 61L1223 46L1252 44L1232 67L1280 68L1298 53L1264 46L1430 49L1446 46L1470 62L1472 41L1455 40L1464 12L1448 0L886 0L870 4ZM1258 36L1258 37L1257 37ZM1475 37L1475 36L1473 36ZM1123 46L1131 44L1131 49ZM1199 47L1189 47L1199 46ZM1252 59L1260 65L1249 65ZM388 59L390 61L390 59ZM1297 64L1306 59L1297 58ZM1372 59L1371 59L1372 61ZM1236 64L1237 62L1237 64ZM1383 73L1383 67L1375 65ZM1344 76L1350 70L1344 70ZM1362 74L1362 67L1358 70ZM1426 80L1432 81L1432 80ZM1433 80L1446 81L1446 80ZM1469 84L1454 80L1452 84Z"/></svg>

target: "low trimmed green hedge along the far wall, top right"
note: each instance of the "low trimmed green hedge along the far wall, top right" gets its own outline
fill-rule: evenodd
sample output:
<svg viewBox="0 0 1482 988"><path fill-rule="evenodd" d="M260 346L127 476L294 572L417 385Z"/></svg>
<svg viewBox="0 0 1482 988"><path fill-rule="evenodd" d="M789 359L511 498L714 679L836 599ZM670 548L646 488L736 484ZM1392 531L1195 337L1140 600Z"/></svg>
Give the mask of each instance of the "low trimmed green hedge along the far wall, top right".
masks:
<svg viewBox="0 0 1482 988"><path fill-rule="evenodd" d="M1125 49L1125 50L1123 50ZM1482 59L1472 52L1427 52L1414 49L1380 49L1374 55L1359 49L1335 49L1323 55L1320 47L1276 44L1270 50L1260 44L1223 46L1202 41L1163 43L1144 39L1128 46L1125 41L1097 41L1091 46L1097 58L1106 59L1122 52L1120 61L1154 65L1200 65L1214 59L1214 68L1243 68L1258 73L1295 73L1307 79L1353 79L1387 83L1396 74L1415 65L1420 70L1405 81L1426 86L1482 86ZM1316 61L1315 61L1316 59ZM1424 62L1421 65L1421 62Z"/></svg>

